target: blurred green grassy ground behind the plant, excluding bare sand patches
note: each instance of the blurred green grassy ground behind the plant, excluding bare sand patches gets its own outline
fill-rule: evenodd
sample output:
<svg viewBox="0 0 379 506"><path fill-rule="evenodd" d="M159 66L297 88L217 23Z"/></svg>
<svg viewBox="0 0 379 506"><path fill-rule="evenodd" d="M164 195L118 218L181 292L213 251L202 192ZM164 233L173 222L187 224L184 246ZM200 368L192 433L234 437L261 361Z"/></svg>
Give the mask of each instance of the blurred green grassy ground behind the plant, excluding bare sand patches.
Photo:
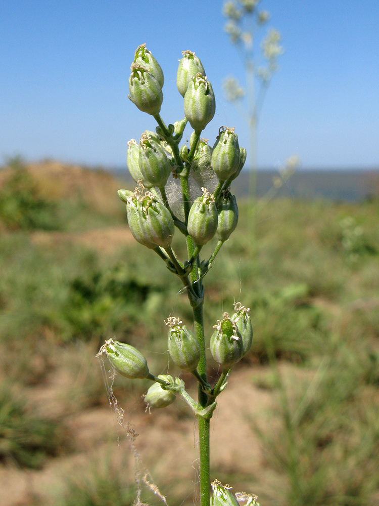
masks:
<svg viewBox="0 0 379 506"><path fill-rule="evenodd" d="M158 256L130 240L124 206L113 202L117 183L88 172L53 162L33 168L20 160L0 172L0 379L30 392L55 384L64 369L66 414L107 404L93 358L105 339L137 346L151 370L166 372L163 319L180 315L191 322L178 280ZM261 364L271 371L255 369L252 381L276 396L268 420L277 421L264 429L252 421L252 428L260 432L267 466L288 483L275 491L274 503L374 504L379 200L259 201L254 243L246 239L247 205L239 202L239 226L205 280L205 321L210 335L234 301L251 308L253 347L241 367ZM103 249L79 240L86 230L104 227L119 227L123 242ZM180 256L175 238L173 245ZM208 245L203 249L205 255ZM122 386L140 396L145 386L135 383ZM36 417L7 389L1 395L3 462L40 467L61 452L57 421ZM125 497L116 497L107 491L112 483L95 482L72 485L65 504L108 504L104 494L128 503L126 489ZM117 483L113 488L121 490Z"/></svg>

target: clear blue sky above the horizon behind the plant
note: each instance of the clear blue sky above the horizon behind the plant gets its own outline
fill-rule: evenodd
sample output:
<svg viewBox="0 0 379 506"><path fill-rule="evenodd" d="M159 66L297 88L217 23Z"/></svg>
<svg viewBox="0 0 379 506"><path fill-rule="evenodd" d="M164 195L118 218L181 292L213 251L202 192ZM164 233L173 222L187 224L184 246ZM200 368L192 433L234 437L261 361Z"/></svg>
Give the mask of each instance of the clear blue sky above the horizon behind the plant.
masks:
<svg viewBox="0 0 379 506"><path fill-rule="evenodd" d="M260 7L286 52L258 126L259 166L279 167L296 153L304 168L378 167L379 2L261 0ZM189 49L216 95L203 136L212 145L219 126L235 126L248 147L247 126L222 92L224 77L244 83L245 71L221 8L219 0L0 0L0 157L125 166L127 141L155 128L127 98L142 43L165 74L166 122L183 117L176 70Z"/></svg>

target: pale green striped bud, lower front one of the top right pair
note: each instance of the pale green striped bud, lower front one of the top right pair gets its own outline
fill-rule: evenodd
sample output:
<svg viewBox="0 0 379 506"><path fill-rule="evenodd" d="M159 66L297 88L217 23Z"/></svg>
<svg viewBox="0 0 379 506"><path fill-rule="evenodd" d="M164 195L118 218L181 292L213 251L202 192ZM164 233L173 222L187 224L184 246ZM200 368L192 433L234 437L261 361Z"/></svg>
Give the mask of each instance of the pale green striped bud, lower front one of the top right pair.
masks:
<svg viewBox="0 0 379 506"><path fill-rule="evenodd" d="M212 85L201 73L189 81L184 95L184 114L196 132L205 129L214 116L216 101Z"/></svg>

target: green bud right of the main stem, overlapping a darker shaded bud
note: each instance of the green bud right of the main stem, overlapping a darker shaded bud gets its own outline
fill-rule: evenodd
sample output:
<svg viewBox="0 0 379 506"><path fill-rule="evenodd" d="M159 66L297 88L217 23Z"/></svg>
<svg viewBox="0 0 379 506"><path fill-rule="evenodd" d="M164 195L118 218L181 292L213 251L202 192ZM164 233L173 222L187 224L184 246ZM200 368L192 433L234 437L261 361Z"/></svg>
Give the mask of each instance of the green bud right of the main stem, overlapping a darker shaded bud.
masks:
<svg viewBox="0 0 379 506"><path fill-rule="evenodd" d="M202 188L203 195L198 197L189 209L187 230L198 246L210 241L217 230L217 208L213 195Z"/></svg>

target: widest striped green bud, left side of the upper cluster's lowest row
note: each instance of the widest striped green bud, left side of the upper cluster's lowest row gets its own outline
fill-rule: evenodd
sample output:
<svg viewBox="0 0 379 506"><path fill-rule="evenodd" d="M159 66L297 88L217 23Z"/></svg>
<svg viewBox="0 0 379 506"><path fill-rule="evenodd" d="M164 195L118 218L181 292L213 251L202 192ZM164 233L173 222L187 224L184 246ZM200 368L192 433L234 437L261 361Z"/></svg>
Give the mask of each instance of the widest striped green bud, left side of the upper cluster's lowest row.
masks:
<svg viewBox="0 0 379 506"><path fill-rule="evenodd" d="M127 198L126 211L128 224L134 239L154 249L171 244L174 235L174 222L169 210L150 192L141 195L136 191Z"/></svg>

